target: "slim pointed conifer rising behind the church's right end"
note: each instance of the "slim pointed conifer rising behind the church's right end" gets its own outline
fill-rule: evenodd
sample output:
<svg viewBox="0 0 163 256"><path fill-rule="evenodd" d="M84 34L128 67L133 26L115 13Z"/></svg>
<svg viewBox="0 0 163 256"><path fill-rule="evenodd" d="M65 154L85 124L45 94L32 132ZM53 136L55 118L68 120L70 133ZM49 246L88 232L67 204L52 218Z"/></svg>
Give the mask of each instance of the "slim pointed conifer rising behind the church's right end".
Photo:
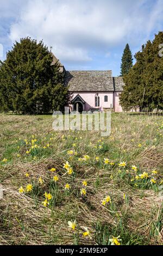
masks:
<svg viewBox="0 0 163 256"><path fill-rule="evenodd" d="M128 74L129 70L133 66L133 56L130 51L130 47L127 44L123 51L122 63L121 63L121 76Z"/></svg>

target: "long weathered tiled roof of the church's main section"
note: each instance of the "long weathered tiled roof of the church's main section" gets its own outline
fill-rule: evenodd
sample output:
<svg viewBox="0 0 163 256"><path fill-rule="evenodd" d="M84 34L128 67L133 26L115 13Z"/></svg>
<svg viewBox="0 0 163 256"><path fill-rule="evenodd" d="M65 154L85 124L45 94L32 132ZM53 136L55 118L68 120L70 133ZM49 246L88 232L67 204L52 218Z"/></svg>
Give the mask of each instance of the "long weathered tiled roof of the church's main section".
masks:
<svg viewBox="0 0 163 256"><path fill-rule="evenodd" d="M112 71L66 71L65 85L70 92L114 91Z"/></svg>

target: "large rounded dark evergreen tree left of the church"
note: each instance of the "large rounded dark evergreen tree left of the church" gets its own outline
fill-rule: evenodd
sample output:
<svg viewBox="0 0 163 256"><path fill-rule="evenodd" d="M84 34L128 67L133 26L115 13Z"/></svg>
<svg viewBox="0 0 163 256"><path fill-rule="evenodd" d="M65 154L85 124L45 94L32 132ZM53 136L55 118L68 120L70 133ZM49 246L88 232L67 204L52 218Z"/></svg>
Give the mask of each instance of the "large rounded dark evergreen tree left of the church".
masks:
<svg viewBox="0 0 163 256"><path fill-rule="evenodd" d="M52 65L52 53L40 41L23 38L0 63L1 111L23 114L62 110L68 100L64 74Z"/></svg>

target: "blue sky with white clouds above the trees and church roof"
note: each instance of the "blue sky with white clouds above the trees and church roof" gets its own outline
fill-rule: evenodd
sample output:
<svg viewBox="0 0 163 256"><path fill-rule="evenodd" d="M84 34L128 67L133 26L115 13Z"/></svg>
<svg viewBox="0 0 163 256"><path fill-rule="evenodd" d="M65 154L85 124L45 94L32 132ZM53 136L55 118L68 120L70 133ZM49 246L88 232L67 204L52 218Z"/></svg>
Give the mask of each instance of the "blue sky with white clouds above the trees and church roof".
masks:
<svg viewBox="0 0 163 256"><path fill-rule="evenodd" d="M30 36L52 46L66 70L112 70L117 76L127 42L134 55L163 31L163 0L0 0L0 4L2 60L15 40Z"/></svg>

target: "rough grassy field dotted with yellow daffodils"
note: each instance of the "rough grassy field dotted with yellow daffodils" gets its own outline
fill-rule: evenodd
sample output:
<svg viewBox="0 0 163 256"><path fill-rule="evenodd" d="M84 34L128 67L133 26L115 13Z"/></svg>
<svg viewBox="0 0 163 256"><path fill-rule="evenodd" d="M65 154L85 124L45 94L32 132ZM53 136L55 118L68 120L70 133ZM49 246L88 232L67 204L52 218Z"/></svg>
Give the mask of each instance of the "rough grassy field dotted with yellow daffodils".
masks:
<svg viewBox="0 0 163 256"><path fill-rule="evenodd" d="M163 244L163 119L111 119L101 137L0 115L1 245Z"/></svg>

